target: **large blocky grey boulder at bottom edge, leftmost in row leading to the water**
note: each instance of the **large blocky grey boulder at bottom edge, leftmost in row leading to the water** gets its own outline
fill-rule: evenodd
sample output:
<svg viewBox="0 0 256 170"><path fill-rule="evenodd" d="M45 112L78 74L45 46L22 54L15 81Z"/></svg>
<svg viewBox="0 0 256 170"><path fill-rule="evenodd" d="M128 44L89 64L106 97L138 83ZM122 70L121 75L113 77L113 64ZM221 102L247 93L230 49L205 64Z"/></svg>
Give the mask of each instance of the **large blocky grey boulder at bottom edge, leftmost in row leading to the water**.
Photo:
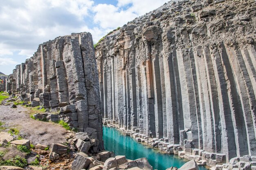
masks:
<svg viewBox="0 0 256 170"><path fill-rule="evenodd" d="M79 152L75 160L72 162L72 170L81 170L81 169L87 169L87 167L92 163L90 159L88 159L87 155L83 152Z"/></svg>

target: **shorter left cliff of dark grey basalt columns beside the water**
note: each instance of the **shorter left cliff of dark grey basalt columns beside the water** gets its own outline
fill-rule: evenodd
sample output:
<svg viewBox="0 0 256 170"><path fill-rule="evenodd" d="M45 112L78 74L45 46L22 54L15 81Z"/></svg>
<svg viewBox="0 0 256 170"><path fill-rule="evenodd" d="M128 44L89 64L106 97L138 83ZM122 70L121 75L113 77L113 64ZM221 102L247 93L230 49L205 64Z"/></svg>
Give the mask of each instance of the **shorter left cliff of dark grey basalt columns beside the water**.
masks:
<svg viewBox="0 0 256 170"><path fill-rule="evenodd" d="M31 106L58 112L79 132L96 132L103 149L98 79L92 35L72 33L40 44L5 82Z"/></svg>

